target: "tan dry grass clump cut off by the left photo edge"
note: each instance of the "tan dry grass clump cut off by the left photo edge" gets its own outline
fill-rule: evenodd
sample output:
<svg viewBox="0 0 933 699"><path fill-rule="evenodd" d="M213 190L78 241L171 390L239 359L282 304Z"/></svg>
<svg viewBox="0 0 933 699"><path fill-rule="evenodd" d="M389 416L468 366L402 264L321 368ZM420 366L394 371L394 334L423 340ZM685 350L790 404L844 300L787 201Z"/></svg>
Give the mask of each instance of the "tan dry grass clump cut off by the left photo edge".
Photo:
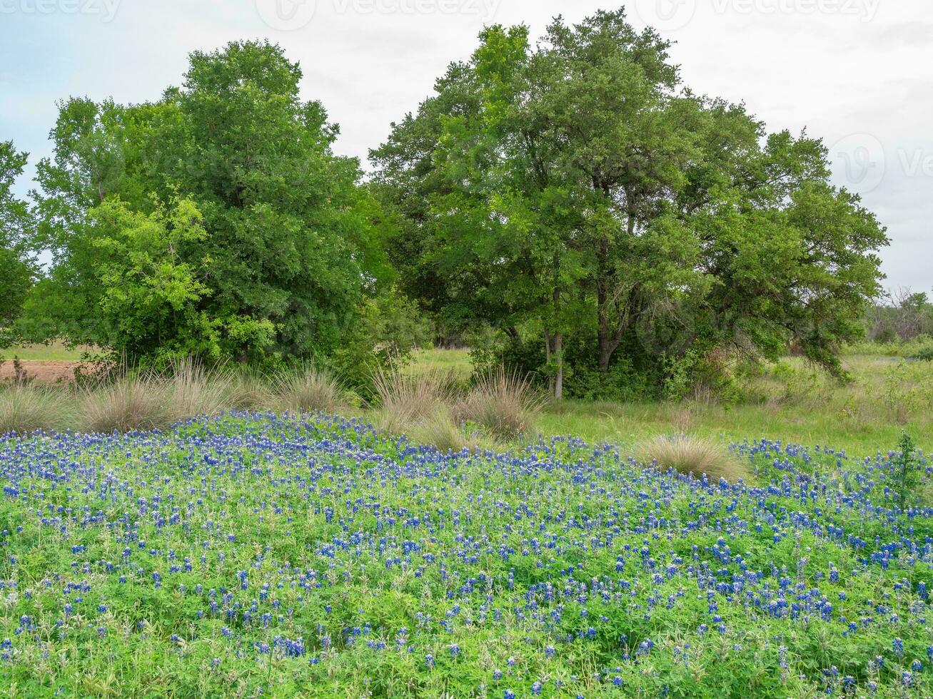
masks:
<svg viewBox="0 0 933 699"><path fill-rule="evenodd" d="M13 383L0 388L0 435L64 430L77 417L72 396L63 389Z"/></svg>

